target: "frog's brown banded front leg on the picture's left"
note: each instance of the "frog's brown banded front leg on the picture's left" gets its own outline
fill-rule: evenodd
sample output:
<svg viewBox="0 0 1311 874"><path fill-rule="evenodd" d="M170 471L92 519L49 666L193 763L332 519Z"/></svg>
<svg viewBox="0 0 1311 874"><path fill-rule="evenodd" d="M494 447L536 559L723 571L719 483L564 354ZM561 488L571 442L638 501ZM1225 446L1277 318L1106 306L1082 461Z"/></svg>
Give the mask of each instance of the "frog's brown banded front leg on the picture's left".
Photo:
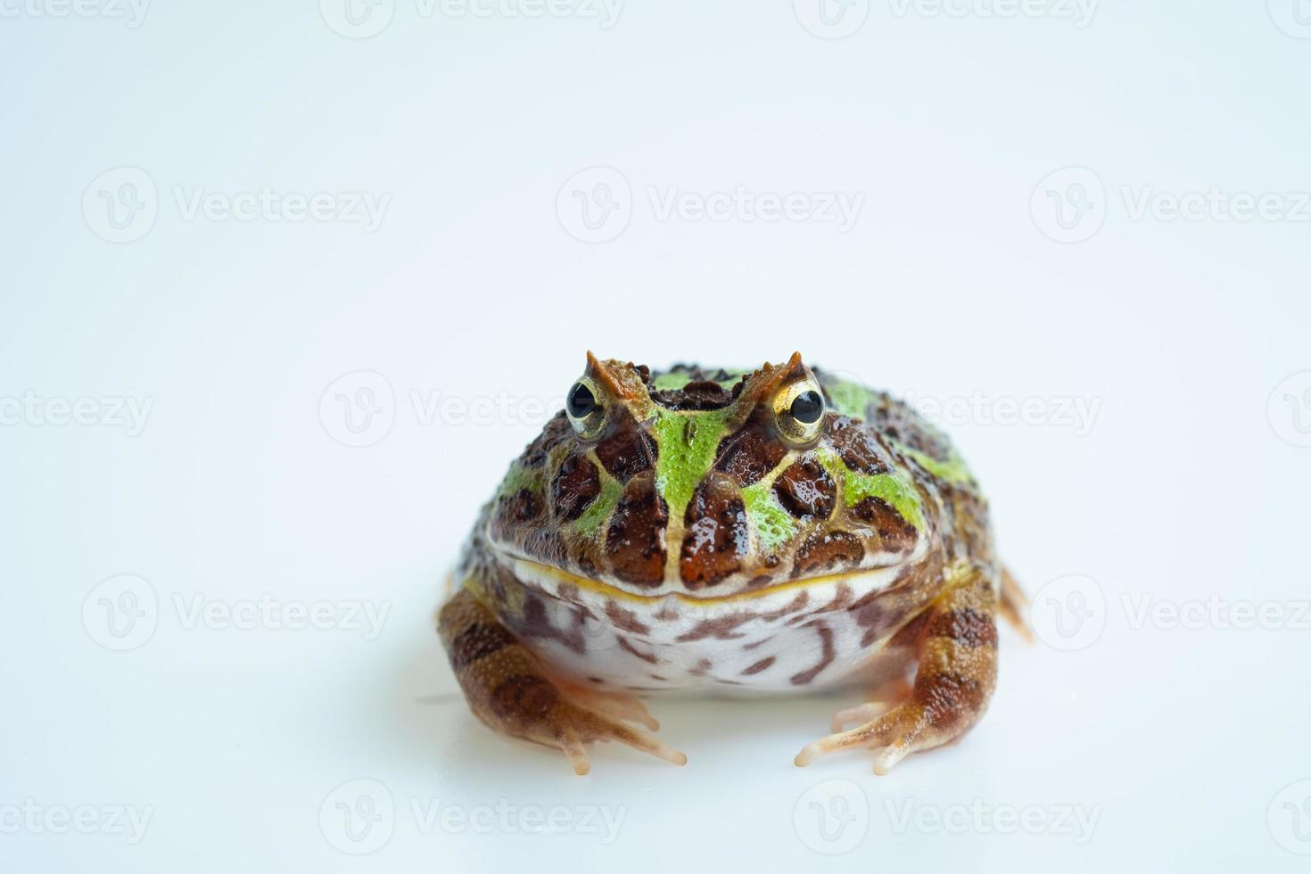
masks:
<svg viewBox="0 0 1311 874"><path fill-rule="evenodd" d="M468 590L442 608L438 632L469 709L490 729L560 750L578 774L589 770L583 744L591 740L619 740L675 765L687 763L682 752L619 721L656 727L636 700L549 679L538 656Z"/></svg>

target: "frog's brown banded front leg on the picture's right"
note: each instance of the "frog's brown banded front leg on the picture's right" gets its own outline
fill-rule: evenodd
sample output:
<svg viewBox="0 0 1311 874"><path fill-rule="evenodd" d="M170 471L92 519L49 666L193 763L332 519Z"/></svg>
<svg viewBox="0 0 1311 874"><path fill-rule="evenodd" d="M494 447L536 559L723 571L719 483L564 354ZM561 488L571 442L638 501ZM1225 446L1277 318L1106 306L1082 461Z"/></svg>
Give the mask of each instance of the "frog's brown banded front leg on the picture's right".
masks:
<svg viewBox="0 0 1311 874"><path fill-rule="evenodd" d="M996 684L995 611L996 594L983 571L970 570L949 584L926 608L910 697L864 725L806 744L796 764L852 747L881 748L874 773L886 774L911 752L940 747L969 731ZM856 708L839 713L835 722L872 713L873 708Z"/></svg>

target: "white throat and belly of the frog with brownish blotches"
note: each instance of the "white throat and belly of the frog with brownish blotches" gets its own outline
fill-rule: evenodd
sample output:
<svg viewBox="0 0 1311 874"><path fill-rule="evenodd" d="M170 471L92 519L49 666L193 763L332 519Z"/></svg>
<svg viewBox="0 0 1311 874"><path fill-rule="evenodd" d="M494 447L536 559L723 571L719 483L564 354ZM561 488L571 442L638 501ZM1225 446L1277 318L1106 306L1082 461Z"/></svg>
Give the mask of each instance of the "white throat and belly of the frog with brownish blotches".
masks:
<svg viewBox="0 0 1311 874"><path fill-rule="evenodd" d="M855 681L914 605L881 598L905 567L724 599L635 598L514 562L524 604L503 617L553 670L600 689L779 693ZM878 603L878 601L882 603Z"/></svg>

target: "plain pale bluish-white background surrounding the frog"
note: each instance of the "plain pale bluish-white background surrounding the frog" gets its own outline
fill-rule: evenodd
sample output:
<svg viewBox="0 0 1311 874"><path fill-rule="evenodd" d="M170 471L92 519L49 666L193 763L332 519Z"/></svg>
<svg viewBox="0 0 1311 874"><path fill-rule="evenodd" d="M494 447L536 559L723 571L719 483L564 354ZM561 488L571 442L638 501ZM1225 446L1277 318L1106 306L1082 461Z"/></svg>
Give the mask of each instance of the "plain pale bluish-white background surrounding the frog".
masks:
<svg viewBox="0 0 1311 874"><path fill-rule="evenodd" d="M1306 4L342 3L0 1L0 866L1304 869ZM861 208L659 210L738 186ZM223 211L262 189L290 212ZM986 719L888 777L792 765L853 696L656 701L682 769L497 739L431 617L586 349L948 404L1046 642L1003 632ZM262 598L387 612L223 620ZM1207 599L1281 626L1139 621Z"/></svg>

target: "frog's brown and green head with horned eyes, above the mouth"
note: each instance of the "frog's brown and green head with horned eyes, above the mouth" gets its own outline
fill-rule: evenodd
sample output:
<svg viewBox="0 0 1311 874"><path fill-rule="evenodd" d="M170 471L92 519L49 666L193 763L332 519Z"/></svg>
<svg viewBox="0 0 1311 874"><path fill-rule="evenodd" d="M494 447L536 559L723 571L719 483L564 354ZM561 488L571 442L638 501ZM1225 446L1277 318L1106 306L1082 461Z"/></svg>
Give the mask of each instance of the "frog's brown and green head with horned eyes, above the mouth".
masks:
<svg viewBox="0 0 1311 874"><path fill-rule="evenodd" d="M496 549L636 596L718 598L922 552L920 493L859 421L877 396L794 354L750 373L598 360L510 468Z"/></svg>

